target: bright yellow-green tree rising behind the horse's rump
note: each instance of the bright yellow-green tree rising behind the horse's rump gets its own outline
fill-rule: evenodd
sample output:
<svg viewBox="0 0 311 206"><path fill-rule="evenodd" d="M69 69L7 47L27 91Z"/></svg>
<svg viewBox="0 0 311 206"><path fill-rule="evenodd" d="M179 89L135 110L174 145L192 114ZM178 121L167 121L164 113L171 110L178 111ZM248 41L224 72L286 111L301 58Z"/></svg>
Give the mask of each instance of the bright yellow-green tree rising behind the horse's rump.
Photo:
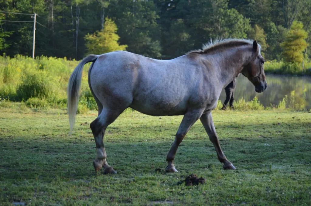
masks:
<svg viewBox="0 0 311 206"><path fill-rule="evenodd" d="M120 37L116 34L117 30L114 21L105 18L104 29L85 36L87 52L89 54L104 54L116 50L124 51L128 45L119 45Z"/></svg>

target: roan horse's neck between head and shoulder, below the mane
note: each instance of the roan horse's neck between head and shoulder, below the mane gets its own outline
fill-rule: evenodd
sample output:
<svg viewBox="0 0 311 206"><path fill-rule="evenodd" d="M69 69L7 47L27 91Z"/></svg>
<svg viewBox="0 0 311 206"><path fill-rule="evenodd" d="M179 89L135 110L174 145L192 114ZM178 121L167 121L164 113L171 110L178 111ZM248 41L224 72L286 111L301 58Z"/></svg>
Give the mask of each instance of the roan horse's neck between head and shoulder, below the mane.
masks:
<svg viewBox="0 0 311 206"><path fill-rule="evenodd" d="M212 55L212 64L214 64L220 86L225 87L234 80L241 73L250 57L251 54L245 52L245 49L240 48L234 48Z"/></svg>

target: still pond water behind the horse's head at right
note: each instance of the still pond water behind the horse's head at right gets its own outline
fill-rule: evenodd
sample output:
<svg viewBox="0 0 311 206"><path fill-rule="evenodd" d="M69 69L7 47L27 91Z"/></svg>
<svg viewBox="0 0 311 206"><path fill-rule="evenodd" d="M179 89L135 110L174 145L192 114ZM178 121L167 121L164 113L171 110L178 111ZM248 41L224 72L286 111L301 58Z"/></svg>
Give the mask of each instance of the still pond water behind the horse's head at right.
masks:
<svg viewBox="0 0 311 206"><path fill-rule="evenodd" d="M234 91L234 100L238 101L244 98L245 101L251 101L255 96L258 97L260 103L264 106L278 105L283 100L285 95L288 96L288 103L290 92L295 90L295 102L302 104L303 90L306 88L305 108L311 109L311 77L293 77L284 75L267 75L267 89L262 93L255 92L253 84L242 74L237 77L236 88ZM221 91L220 100L225 101L225 90Z"/></svg>

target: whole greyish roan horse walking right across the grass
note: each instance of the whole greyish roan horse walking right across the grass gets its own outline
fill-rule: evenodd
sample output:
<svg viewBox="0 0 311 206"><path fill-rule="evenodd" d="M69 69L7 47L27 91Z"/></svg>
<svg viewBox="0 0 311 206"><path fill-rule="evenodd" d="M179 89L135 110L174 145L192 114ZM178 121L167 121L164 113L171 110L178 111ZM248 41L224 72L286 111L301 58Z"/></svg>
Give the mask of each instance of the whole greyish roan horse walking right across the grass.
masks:
<svg viewBox="0 0 311 206"><path fill-rule="evenodd" d="M116 172L106 161L103 138L106 128L128 107L146 115L184 115L166 157L167 172L177 172L174 157L190 127L200 119L224 169L235 169L222 152L211 111L221 90L242 73L256 92L267 88L264 59L256 41L217 40L171 60L156 60L126 51L90 54L73 71L68 83L68 114L73 129L84 64L92 62L88 82L98 105L90 124L95 138L95 171Z"/></svg>

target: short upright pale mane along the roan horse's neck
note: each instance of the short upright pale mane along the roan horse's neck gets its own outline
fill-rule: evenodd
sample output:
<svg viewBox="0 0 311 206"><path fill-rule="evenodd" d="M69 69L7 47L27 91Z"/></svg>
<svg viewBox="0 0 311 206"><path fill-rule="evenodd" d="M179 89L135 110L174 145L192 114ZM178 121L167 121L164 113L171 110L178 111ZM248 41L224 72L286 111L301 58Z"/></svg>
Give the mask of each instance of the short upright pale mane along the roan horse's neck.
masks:
<svg viewBox="0 0 311 206"><path fill-rule="evenodd" d="M203 44L202 49L196 49L188 52L187 54L197 53L197 54L206 54L211 51L215 51L218 49L232 48L244 45L252 45L253 40L249 39L216 39L214 41L210 41L207 44ZM258 44L259 45L259 44ZM261 49L259 45L259 49Z"/></svg>

